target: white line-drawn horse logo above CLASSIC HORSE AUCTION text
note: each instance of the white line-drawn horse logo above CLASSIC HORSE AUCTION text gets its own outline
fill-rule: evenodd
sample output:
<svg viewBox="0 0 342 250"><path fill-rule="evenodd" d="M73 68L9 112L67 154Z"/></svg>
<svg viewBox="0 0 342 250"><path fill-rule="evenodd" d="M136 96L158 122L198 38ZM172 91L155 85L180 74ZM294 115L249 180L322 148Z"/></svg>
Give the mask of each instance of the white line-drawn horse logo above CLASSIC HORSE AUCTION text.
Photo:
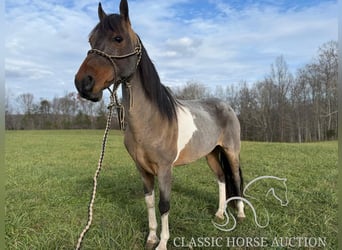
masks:
<svg viewBox="0 0 342 250"><path fill-rule="evenodd" d="M277 181L279 185L274 185L276 183L275 181ZM230 232L230 231L234 230L236 227L236 219L234 218L234 216L232 215L232 213L230 211L227 212L228 204L232 201L243 201L245 204L247 204L251 208L252 213L254 215L255 224L259 228L267 227L269 225L270 219L269 219L269 215L268 215L266 208L264 208L265 216L266 216L266 222L262 225L260 223L260 221L258 220L257 212L255 209L255 206L253 205L253 204L255 204L254 201L256 201L256 203L260 203L260 201L255 196L252 196L250 194L246 194L246 192L248 189L251 189L251 187L253 187L253 184L255 185L255 183L261 182L260 185L263 188L266 187L266 189L267 189L264 192L264 197L266 198L269 194L272 194L273 197L280 203L280 205L282 207L285 207L289 203L289 200L287 198L286 181L287 181L286 178L279 178L276 176L259 176L255 179L251 180L243 189L243 196L244 197L230 197L230 198L228 198L228 200L226 200L225 212L224 212L224 215L226 217L226 221L223 224L219 224L219 223L216 223L213 221L214 226L217 229L219 229L221 231L225 231L225 232ZM230 223L229 215L231 216L231 218L233 218L233 225L230 227L228 227L228 225Z"/></svg>

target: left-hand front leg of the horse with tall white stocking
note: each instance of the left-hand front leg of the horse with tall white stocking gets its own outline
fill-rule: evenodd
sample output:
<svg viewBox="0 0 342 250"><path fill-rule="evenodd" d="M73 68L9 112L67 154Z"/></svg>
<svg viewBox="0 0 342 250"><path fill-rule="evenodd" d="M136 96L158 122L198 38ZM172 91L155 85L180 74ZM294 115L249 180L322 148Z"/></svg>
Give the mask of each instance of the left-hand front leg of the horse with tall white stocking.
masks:
<svg viewBox="0 0 342 250"><path fill-rule="evenodd" d="M154 196L154 176L139 168L141 177L144 183L145 202L148 213L149 234L146 242L146 249L153 249L158 243L157 236L157 219L155 210L155 196Z"/></svg>

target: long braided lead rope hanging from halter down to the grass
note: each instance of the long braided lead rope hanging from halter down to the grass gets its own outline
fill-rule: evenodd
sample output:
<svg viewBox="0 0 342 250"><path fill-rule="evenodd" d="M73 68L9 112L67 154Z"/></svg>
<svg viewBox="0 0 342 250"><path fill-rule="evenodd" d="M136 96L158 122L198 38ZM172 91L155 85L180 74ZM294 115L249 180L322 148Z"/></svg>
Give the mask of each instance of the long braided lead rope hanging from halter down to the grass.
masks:
<svg viewBox="0 0 342 250"><path fill-rule="evenodd" d="M105 132L104 132L104 135L103 135L103 139L102 139L102 150L101 150L100 158L99 158L99 161L98 161L98 164L97 164L97 169L96 169L96 172L95 172L95 175L94 175L94 178L93 178L94 186L93 186L93 192L92 192L91 199L90 199L90 202L89 202L89 207L88 207L88 222L87 222L86 226L84 227L82 233L80 234L80 236L78 238L76 250L79 250L81 248L81 244L82 244L83 238L84 238L85 234L88 232L88 230L90 228L90 225L91 225L91 222L93 220L93 206L94 206L95 196L96 196L97 178L98 178L98 176L100 174L100 171L101 171L101 168L102 168L102 162L103 162L103 158L104 158L104 154L105 154L105 149L106 149L106 144L107 144L107 137L108 137L108 133L109 133L109 129L110 129L111 123L112 123L113 108L115 106L120 106L120 104L118 102L118 99L117 99L117 95L116 95L117 87L115 87L113 89L113 91L108 88L109 91L111 92L110 104L108 106L109 113L108 113L108 117L107 117L106 129L105 129Z"/></svg>

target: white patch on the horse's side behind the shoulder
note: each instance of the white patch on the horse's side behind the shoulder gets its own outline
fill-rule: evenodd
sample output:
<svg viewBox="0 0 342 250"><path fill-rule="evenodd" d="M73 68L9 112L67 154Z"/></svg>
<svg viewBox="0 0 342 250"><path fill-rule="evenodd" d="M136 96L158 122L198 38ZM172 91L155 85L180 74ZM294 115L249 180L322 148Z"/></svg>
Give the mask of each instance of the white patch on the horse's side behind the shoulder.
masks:
<svg viewBox="0 0 342 250"><path fill-rule="evenodd" d="M190 110L186 107L177 108L178 120L178 138L177 138L177 156L174 162L178 159L180 152L185 148L186 144L192 138L192 135L197 130L194 122L194 117Z"/></svg>

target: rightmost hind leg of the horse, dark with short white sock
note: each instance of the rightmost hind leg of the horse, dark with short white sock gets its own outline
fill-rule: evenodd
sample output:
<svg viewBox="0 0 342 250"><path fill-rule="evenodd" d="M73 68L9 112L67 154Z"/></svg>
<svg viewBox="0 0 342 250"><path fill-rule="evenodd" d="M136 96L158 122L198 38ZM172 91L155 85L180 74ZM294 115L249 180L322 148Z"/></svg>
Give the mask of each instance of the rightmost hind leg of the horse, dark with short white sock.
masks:
<svg viewBox="0 0 342 250"><path fill-rule="evenodd" d="M231 191L233 192L233 196L242 197L242 189L243 189L243 178L242 178L242 171L240 168L240 159L239 153L231 150L224 149L225 156L228 158L229 166L232 175L232 185ZM242 220L246 218L244 212L244 204L242 200L237 200L236 202L237 208L237 217L238 219Z"/></svg>

